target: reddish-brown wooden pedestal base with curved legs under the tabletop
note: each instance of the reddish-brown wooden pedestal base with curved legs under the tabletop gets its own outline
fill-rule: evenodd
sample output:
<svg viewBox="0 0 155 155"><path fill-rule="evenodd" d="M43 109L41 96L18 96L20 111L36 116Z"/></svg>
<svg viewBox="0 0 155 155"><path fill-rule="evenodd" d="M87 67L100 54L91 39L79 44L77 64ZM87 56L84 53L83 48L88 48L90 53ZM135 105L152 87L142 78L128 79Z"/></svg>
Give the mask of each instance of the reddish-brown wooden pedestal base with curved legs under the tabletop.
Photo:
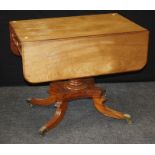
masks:
<svg viewBox="0 0 155 155"><path fill-rule="evenodd" d="M52 82L48 92L49 97L46 99L28 99L31 105L49 106L54 104L56 107L53 118L40 128L39 132L42 135L63 119L69 101L80 98L91 98L96 109L105 116L126 119L131 123L129 114L113 110L104 104L107 101L105 90L96 87L93 78Z"/></svg>

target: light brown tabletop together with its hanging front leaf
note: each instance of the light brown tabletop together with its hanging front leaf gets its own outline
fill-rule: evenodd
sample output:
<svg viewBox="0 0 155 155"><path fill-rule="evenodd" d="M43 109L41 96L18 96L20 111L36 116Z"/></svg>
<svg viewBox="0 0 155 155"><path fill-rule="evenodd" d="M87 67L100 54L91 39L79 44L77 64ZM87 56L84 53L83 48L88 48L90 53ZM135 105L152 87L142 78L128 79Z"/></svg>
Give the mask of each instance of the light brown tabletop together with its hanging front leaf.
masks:
<svg viewBox="0 0 155 155"><path fill-rule="evenodd" d="M147 62L149 32L118 14L10 26L20 42L24 77L32 83L136 71Z"/></svg>

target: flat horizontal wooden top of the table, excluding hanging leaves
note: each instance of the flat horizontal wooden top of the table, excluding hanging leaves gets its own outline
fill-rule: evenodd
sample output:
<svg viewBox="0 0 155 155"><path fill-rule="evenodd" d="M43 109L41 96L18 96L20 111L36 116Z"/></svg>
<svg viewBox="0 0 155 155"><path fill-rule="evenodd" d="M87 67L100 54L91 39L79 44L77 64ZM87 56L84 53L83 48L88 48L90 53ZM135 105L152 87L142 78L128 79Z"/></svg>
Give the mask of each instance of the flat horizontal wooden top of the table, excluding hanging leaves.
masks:
<svg viewBox="0 0 155 155"><path fill-rule="evenodd" d="M21 42L107 35L145 30L117 14L99 14L10 22Z"/></svg>

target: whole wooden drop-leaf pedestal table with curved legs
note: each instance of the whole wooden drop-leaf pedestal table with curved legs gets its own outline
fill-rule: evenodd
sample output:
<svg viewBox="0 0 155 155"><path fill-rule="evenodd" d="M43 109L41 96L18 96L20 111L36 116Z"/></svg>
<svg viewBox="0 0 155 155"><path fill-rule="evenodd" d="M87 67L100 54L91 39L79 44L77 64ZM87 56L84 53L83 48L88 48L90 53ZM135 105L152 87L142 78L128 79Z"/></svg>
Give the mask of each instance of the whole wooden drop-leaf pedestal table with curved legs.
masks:
<svg viewBox="0 0 155 155"><path fill-rule="evenodd" d="M31 105L55 105L46 133L64 117L68 102L91 98L103 115L131 121L131 116L105 105L105 90L93 77L141 70L147 62L149 31L117 14L85 15L10 22L12 52L22 57L30 83L51 82L49 97Z"/></svg>

